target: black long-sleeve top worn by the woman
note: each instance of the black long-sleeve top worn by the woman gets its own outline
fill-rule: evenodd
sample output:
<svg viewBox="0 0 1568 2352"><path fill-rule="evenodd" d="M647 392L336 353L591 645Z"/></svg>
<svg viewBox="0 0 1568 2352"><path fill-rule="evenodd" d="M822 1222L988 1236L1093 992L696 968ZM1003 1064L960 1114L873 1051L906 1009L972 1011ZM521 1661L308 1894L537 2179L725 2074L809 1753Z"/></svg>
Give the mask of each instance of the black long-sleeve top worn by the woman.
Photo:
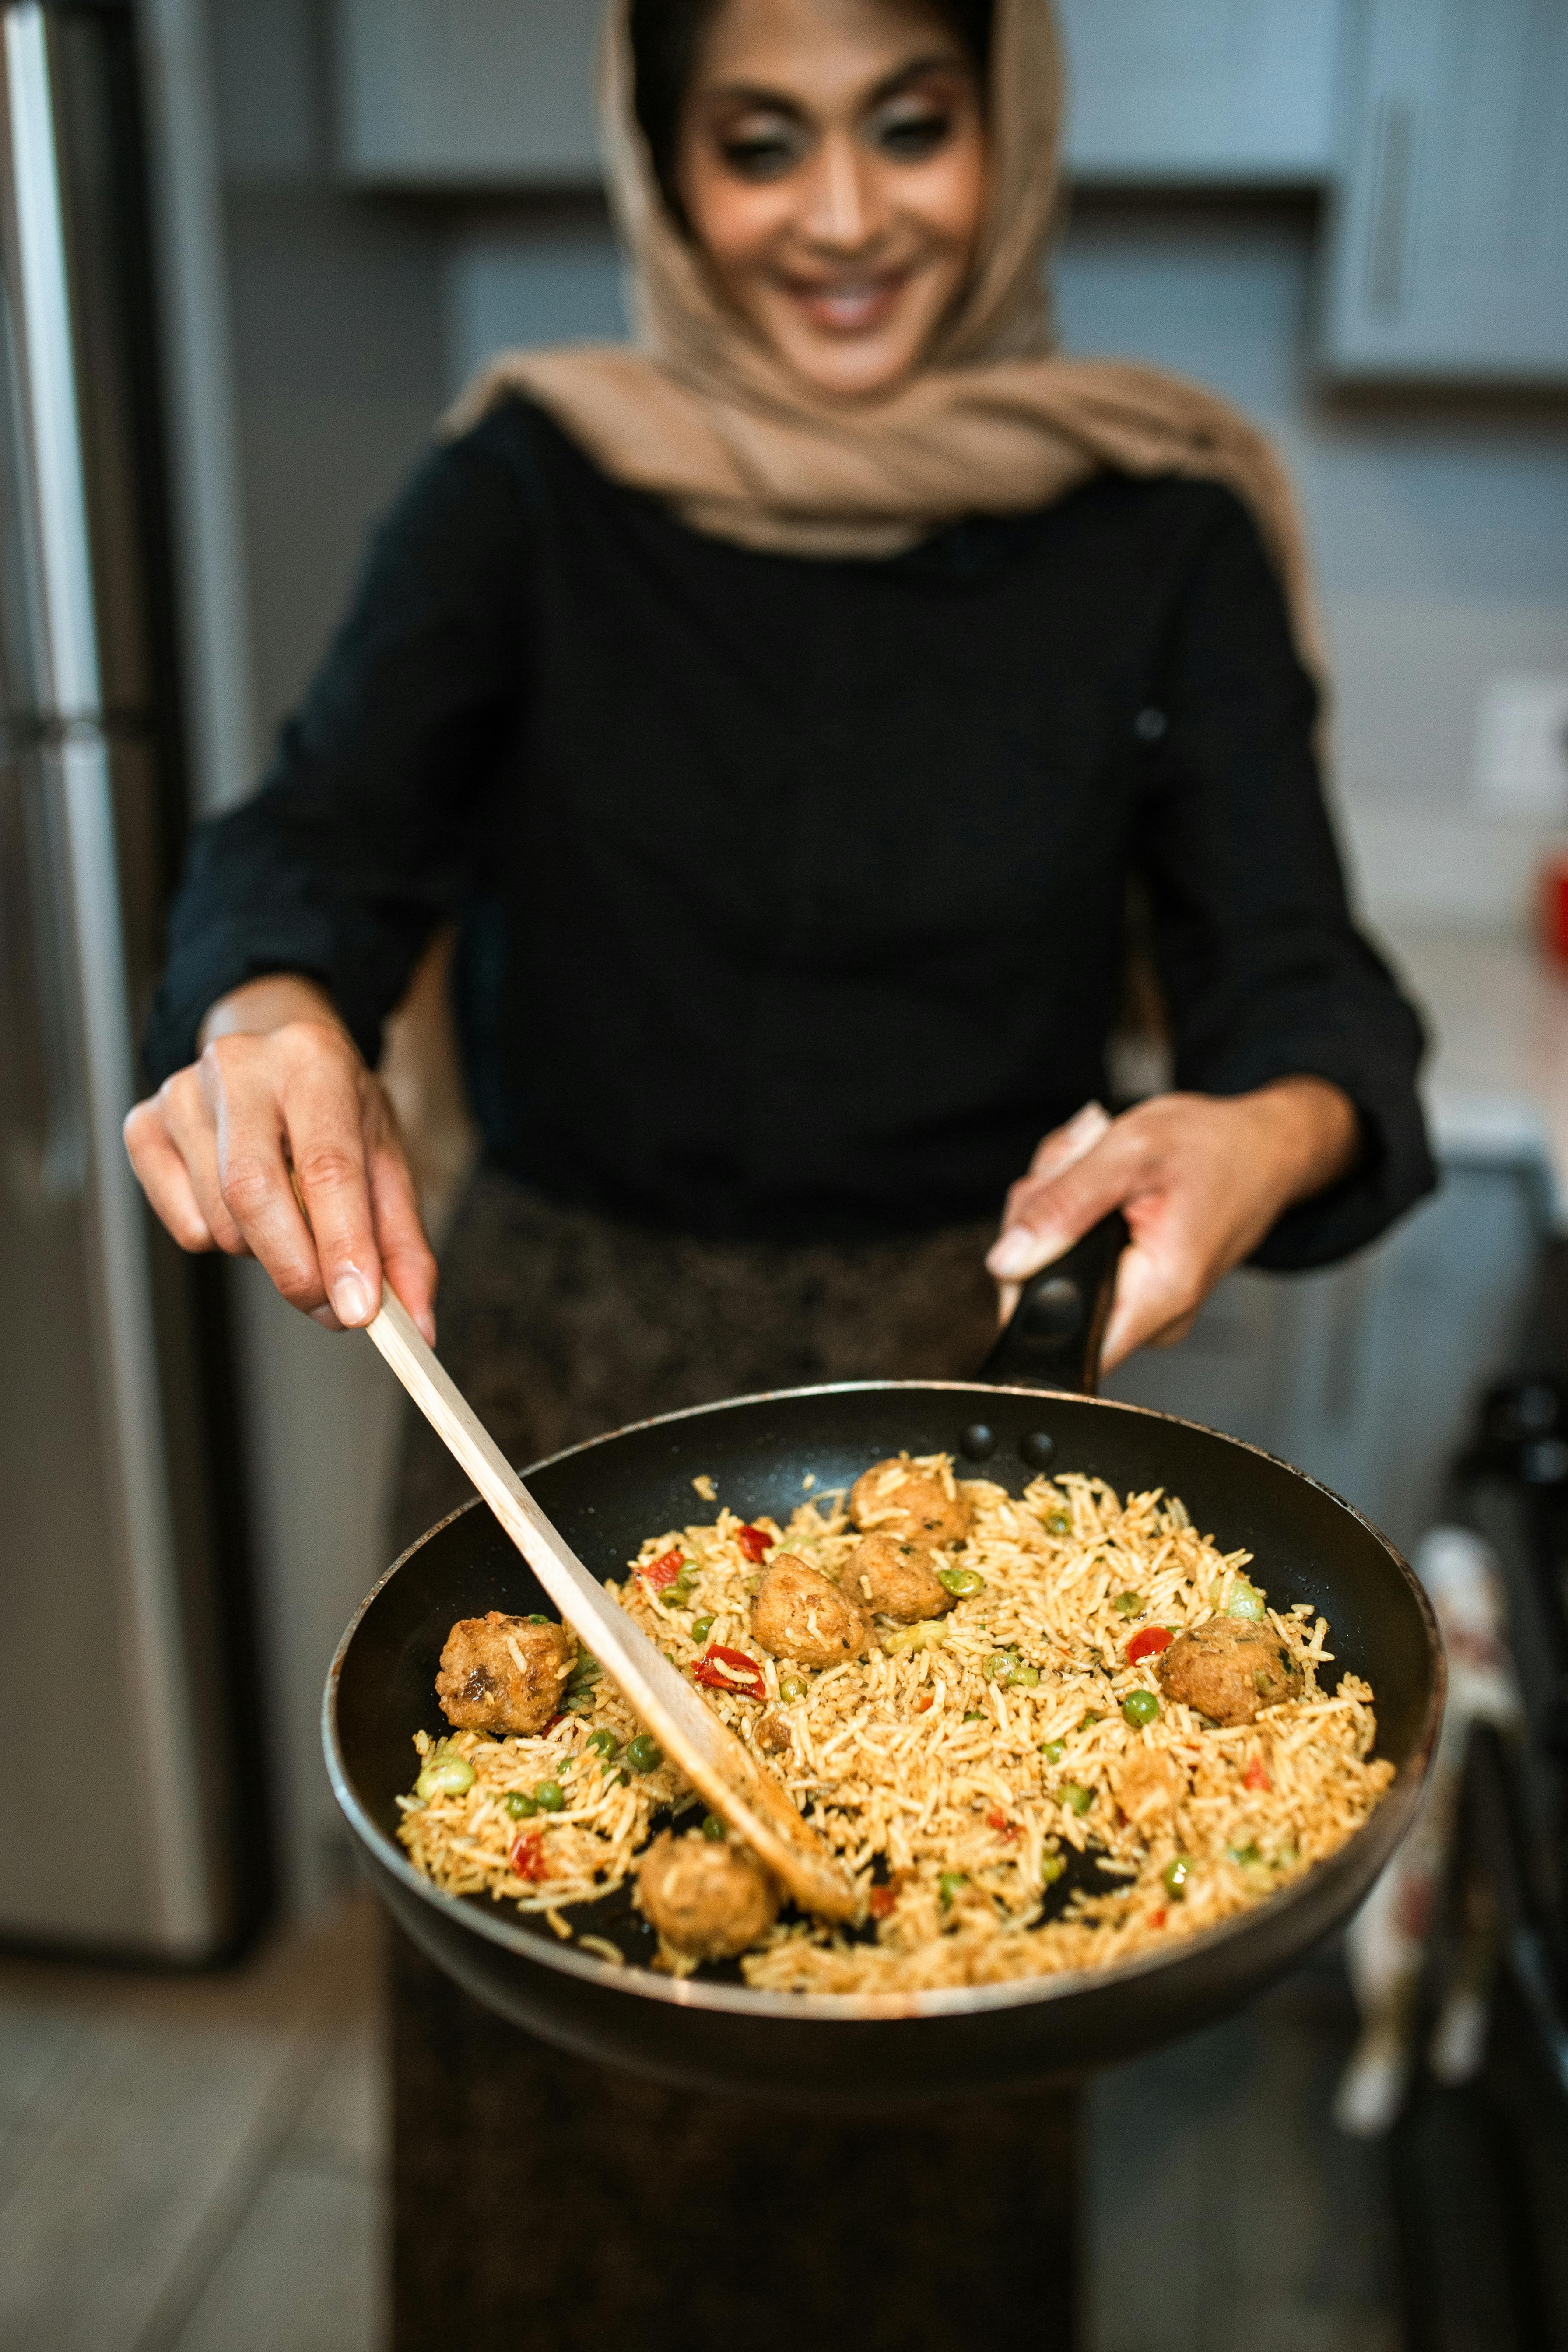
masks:
<svg viewBox="0 0 1568 2352"><path fill-rule="evenodd" d="M891 560L755 553L508 400L437 447L244 807L202 828L148 1065L299 971L374 1061L458 917L489 1155L708 1237L994 1214L1105 1089L1128 870L1175 1082L1333 1080L1354 1176L1267 1265L1432 1183L1420 1025L1349 922L1314 689L1248 513L1100 475Z"/></svg>

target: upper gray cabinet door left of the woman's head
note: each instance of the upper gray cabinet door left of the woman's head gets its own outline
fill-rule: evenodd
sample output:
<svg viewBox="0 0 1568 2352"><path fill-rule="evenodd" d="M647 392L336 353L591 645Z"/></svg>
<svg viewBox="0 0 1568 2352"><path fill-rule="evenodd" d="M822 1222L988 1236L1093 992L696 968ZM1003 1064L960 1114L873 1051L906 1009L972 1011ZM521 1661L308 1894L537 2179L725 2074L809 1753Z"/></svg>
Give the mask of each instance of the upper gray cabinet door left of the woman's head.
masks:
<svg viewBox="0 0 1568 2352"><path fill-rule="evenodd" d="M336 0L339 165L386 186L599 179L602 0Z"/></svg>

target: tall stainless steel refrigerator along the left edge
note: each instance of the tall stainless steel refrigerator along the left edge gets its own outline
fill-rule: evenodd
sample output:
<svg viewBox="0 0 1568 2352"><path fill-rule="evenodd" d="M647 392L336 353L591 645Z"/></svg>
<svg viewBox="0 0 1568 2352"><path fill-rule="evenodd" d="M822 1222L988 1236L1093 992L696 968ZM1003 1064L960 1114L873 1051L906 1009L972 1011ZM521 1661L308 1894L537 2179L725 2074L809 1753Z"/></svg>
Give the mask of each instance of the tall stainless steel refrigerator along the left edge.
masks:
<svg viewBox="0 0 1568 2352"><path fill-rule="evenodd" d="M212 1268L120 1141L183 828L127 7L0 7L0 1938L259 1896Z"/></svg>

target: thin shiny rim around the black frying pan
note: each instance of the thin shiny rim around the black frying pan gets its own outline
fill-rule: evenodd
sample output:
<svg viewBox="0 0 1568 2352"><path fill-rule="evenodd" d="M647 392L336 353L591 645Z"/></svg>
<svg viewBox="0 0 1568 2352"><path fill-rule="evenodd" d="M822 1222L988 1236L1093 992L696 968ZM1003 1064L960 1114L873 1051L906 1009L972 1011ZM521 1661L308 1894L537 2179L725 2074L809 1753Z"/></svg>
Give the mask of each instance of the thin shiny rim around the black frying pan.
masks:
<svg viewBox="0 0 1568 2352"><path fill-rule="evenodd" d="M1300 1470L1295 1463L1284 1461L1279 1454L1269 1454L1265 1446L1251 1444L1246 1437L1232 1437L1227 1430L1211 1430L1204 1421L1185 1421L1180 1414L1159 1411L1152 1404L1126 1404L1119 1397L1086 1397L1079 1390L1067 1388L1030 1388L1023 1383L999 1383L999 1381L813 1381L804 1388L766 1388L748 1397L715 1397L710 1404L686 1404L672 1414L649 1414L642 1421L628 1421L616 1430L602 1430L597 1437L585 1437L576 1446L562 1446L557 1454L545 1454L541 1461L529 1463L520 1477L527 1482L538 1470L550 1470L555 1463L571 1461L576 1454L590 1454L595 1446L611 1444L616 1437L628 1437L635 1430L668 1428L679 1421L698 1421L705 1414L731 1411L738 1404L780 1404L797 1397L844 1397L844 1395L896 1395L896 1392L943 1392L943 1395L980 1395L980 1397L1027 1397L1030 1402L1053 1399L1058 1404L1091 1404L1098 1411L1128 1414L1143 1421L1157 1421L1164 1428L1199 1430L1204 1437L1218 1437L1225 1446L1237 1446L1244 1454L1255 1454L1260 1461L1272 1463L1276 1470L1286 1470L1293 1479L1312 1486L1316 1494L1335 1503L1349 1519L1366 1529L1368 1536L1387 1552L1394 1569L1401 1573L1408 1592L1415 1597L1418 1613L1427 1628L1429 1656L1434 1665L1432 1693L1427 1700L1427 1712L1420 1733L1410 1748L1410 1755L1396 1769L1389 1783L1387 1797L1375 1809L1375 1813L1349 1837L1335 1853L1314 1863L1295 1882L1295 1886L1269 1896L1265 1903L1251 1910L1237 1912L1234 1919L1222 1919L1218 1926L1201 1929L1197 1936L1182 1936L1171 1952L1145 1952L1140 1959L1124 1959L1107 1969L1063 1969L1051 1976L1025 1976L1011 1978L1001 1985L938 1985L912 1992L766 1992L752 1985L719 1985L703 1983L698 1978L663 1978L651 1969L635 1962L607 1962L595 1959L590 1952L578 1952L571 1945L557 1943L548 1945L543 1938L529 1933L522 1926L512 1926L505 1917L489 1917L477 1905L470 1905L461 1896L442 1893L425 1879L404 1851L397 1846L386 1830L371 1820L369 1811L360 1802L360 1795L348 1776L348 1764L339 1743L339 1679L343 1672L343 1661L348 1658L350 1644L374 1606L381 1592L388 1588L393 1576L423 1550L423 1545L440 1534L440 1529L451 1526L465 1512L480 1508L480 1496L468 1503L458 1503L449 1510L444 1519L437 1519L423 1531L397 1559L383 1569L376 1583L369 1588L360 1606L355 1609L343 1639L331 1653L331 1665L327 1668L327 1686L322 1691L322 1750L327 1759L327 1778L331 1780L331 1792L360 1839L360 1844L374 1856L376 1865L400 1882L400 1886L428 1903L437 1915L449 1919L454 1926L463 1926L468 1933L482 1936L484 1940L501 1945L501 1950L512 1952L517 1959L536 1962L538 1966L555 1969L559 1976L578 1978L583 1985L604 1992L635 1994L639 1999L665 2002L675 2009L708 2009L726 2011L731 2016L748 2018L780 2018L809 2025L851 2025L851 2023L893 2023L898 2018L940 2018L940 2016L966 2016L973 2011L990 2009L1020 2009L1032 2002L1072 1999L1086 1992L1107 1992L1121 1985L1133 1985L1140 1978L1154 1976L1161 1969L1180 1966L1187 1959L1199 1959L1213 1952L1218 1945L1227 1943L1248 1926L1255 1926L1262 1917L1281 1919L1300 1903L1309 1900L1324 1884L1324 1872L1333 1870L1354 1853L1363 1839L1368 1839L1389 1818L1389 1809L1401 1811L1403 1818L1385 1851L1385 1865L1392 1858L1399 1842L1410 1830L1415 1818L1415 1806L1420 1792L1427 1783L1432 1769L1432 1757L1436 1750L1436 1736L1443 1722L1443 1705L1448 1696L1448 1661L1443 1653L1441 1632L1436 1625L1436 1613L1427 1597L1425 1585L1415 1576L1415 1569L1403 1557L1403 1552L1373 1526L1366 1512L1356 1510L1342 1494L1324 1479L1312 1477L1312 1472Z"/></svg>

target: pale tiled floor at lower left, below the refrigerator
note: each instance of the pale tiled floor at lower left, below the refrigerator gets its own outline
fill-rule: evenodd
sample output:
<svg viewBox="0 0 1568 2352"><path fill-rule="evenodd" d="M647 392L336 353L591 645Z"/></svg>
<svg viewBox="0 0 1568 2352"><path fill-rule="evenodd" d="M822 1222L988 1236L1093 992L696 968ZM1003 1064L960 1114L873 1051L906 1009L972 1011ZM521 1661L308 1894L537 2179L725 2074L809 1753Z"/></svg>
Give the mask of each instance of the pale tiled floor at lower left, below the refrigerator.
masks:
<svg viewBox="0 0 1568 2352"><path fill-rule="evenodd" d="M0 2347L374 2352L376 2002L369 1905L230 1976L0 1962Z"/></svg>

